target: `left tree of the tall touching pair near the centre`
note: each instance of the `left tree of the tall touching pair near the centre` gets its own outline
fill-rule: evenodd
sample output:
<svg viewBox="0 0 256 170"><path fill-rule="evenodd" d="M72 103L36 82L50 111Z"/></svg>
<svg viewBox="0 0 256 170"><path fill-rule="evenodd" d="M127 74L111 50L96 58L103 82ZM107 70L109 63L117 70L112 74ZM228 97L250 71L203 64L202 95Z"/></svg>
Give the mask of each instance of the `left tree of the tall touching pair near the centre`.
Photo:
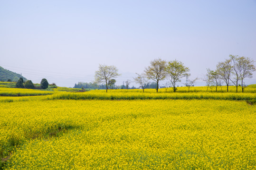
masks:
<svg viewBox="0 0 256 170"><path fill-rule="evenodd" d="M154 59L150 62L150 66L145 68L144 73L148 79L152 79L157 83L156 92L158 92L159 81L166 77L166 61L162 59Z"/></svg>

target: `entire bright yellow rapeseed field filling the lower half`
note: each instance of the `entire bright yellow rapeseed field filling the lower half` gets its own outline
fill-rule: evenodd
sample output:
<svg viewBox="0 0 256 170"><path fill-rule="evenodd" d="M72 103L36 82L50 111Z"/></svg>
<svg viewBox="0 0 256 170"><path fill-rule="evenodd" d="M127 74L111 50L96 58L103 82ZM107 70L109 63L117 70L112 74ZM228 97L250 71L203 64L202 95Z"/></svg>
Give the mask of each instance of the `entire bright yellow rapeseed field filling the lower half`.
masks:
<svg viewBox="0 0 256 170"><path fill-rule="evenodd" d="M223 87L225 88L225 87ZM28 89L0 88L0 93ZM170 90L170 91L169 91ZM256 168L255 85L0 96L3 170ZM38 96L33 93L42 92Z"/></svg>

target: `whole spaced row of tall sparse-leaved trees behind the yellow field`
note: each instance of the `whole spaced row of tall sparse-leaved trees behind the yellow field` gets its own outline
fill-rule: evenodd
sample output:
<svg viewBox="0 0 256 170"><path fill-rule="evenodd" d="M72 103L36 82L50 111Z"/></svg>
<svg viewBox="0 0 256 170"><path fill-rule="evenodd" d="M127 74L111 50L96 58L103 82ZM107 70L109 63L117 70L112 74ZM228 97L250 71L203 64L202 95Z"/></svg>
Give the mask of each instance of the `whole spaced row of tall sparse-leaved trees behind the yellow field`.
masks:
<svg viewBox="0 0 256 170"><path fill-rule="evenodd" d="M251 78L252 72L256 71L254 66L254 60L246 57L239 57L230 55L229 59L226 59L224 62L218 62L216 70L207 69L207 78L206 83L209 87L210 85L216 84L216 91L218 85L221 85L222 82L225 82L227 85L230 85L232 82L234 85L238 86L238 81L241 80L242 92L244 92L243 80L245 78ZM95 83L102 84L106 86L106 92L108 87L111 86L111 81L114 77L121 76L118 74L118 69L115 66L99 65L99 69L95 71ZM150 65L144 69L141 74L136 73L134 77L134 82L139 84L144 92L146 85L149 80L153 80L156 83L156 92L159 89L159 82L161 80L169 80L173 91L177 90L177 83L181 81L182 77L187 77L186 86L193 86L196 80L190 79L190 69L181 61L177 59L171 61L165 61L162 59L154 59L150 62ZM115 80L114 80L115 83ZM129 83L126 82L126 88ZM124 85L123 85L124 86ZM168 85L166 85L168 87Z"/></svg>

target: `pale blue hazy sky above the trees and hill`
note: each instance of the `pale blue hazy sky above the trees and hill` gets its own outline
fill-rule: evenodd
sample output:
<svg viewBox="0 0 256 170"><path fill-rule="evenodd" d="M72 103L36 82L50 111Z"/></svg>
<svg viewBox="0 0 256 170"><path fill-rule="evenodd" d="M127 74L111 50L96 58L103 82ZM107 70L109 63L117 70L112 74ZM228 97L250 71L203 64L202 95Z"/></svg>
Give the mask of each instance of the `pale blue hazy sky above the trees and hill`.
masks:
<svg viewBox="0 0 256 170"><path fill-rule="evenodd" d="M256 0L0 1L0 66L33 83L73 87L106 64L122 85L156 58L203 78L229 54L256 60Z"/></svg>

